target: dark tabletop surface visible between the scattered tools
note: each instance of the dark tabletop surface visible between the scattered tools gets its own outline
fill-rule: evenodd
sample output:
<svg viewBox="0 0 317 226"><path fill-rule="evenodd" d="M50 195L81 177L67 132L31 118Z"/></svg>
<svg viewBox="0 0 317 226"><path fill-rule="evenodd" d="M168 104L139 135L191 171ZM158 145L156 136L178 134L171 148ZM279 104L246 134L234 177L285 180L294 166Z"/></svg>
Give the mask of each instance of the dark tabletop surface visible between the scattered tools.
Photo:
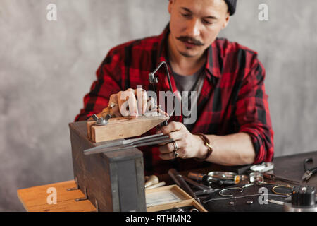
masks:
<svg viewBox="0 0 317 226"><path fill-rule="evenodd" d="M317 188L317 174L313 175L311 179L309 179L309 182L302 182L302 175L304 174L304 160L306 158L313 158L313 162L309 163L309 169L312 167L317 166L317 151L310 152L310 153L301 153L296 155L287 155L287 156L281 156L281 157L275 157L273 160L274 163L274 169L273 174L275 174L276 177L283 177L287 179L292 179L295 181L299 181L298 184L291 184L289 182L283 182L280 180L268 180L266 179L265 182L268 182L270 184L278 184L278 185L290 185L290 186L296 186L296 185L309 185L314 186ZM249 167L249 166L247 166ZM250 165L251 167L251 165ZM197 173L203 173L208 174L208 172L211 171L231 171L231 172L237 172L237 169L241 169L242 167L223 167L220 165L211 165L211 167L202 168L202 169L192 169L190 172L197 172ZM244 167L246 168L246 167ZM183 176L187 176L189 171L180 172ZM249 172L244 173L246 175L249 174ZM165 181L166 184L175 184L173 180L169 177L168 174L161 174L158 176L160 181ZM241 184L237 184L237 186L242 186L243 184L247 184L248 181L244 181ZM266 186L270 187L271 185L267 184ZM272 185L275 186L275 185ZM223 189L225 186L217 186L213 185L213 188ZM259 189L256 186L251 186L246 191L250 191L250 189ZM251 192L251 191L250 191ZM253 192L256 192L254 190ZM213 198L221 198L218 194L215 193ZM199 196L201 198L201 201L206 201L211 196ZM284 201L284 198L280 199L278 197L275 198L275 200ZM254 199L254 203L256 202L256 199ZM208 211L274 211L279 212L283 210L282 206L276 205L276 204L270 204L270 205L254 205L254 206L246 206L244 203L236 203L235 206L229 207L228 201L223 201L222 203L210 203L204 205L204 207Z"/></svg>

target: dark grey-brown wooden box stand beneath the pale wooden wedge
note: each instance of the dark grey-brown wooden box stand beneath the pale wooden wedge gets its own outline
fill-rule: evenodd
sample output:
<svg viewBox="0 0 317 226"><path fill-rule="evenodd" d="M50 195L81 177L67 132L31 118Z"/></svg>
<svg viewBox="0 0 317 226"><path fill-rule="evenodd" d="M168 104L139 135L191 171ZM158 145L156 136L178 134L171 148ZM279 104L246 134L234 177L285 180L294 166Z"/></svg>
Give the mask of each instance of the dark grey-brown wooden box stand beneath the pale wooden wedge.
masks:
<svg viewBox="0 0 317 226"><path fill-rule="evenodd" d="M89 141L87 121L70 123L69 128L75 182L96 209L146 211L142 152L130 148L84 155L87 148L107 142Z"/></svg>

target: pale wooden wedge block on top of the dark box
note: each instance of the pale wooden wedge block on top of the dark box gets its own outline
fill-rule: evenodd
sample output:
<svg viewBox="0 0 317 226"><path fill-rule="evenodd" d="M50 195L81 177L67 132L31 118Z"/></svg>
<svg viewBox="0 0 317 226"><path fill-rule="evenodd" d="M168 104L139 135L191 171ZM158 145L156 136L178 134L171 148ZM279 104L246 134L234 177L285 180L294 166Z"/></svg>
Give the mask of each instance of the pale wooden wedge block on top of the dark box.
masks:
<svg viewBox="0 0 317 226"><path fill-rule="evenodd" d="M94 125L94 121L87 121L87 137L99 143L120 138L140 136L168 119L166 116L141 116L111 118L104 126Z"/></svg>

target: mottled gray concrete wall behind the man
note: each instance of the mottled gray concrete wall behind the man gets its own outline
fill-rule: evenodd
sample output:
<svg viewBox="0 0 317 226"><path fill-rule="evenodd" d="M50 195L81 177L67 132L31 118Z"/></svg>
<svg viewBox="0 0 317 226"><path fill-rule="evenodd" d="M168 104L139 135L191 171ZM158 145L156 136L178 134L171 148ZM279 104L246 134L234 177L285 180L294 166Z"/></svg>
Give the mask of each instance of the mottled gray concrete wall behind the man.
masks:
<svg viewBox="0 0 317 226"><path fill-rule="evenodd" d="M57 21L46 6L57 5ZM268 5L268 21L258 6ZM166 0L0 0L0 211L16 190L73 179L68 122L108 50L157 35ZM317 1L240 0L221 33L259 52L275 156L317 149Z"/></svg>

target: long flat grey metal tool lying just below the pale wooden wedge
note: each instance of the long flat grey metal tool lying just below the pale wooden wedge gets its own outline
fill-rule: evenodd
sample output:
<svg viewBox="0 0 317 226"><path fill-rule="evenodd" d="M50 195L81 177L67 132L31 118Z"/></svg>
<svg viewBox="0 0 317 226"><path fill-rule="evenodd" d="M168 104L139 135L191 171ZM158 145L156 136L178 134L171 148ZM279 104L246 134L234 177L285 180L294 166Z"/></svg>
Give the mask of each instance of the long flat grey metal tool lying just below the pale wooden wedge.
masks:
<svg viewBox="0 0 317 226"><path fill-rule="evenodd" d="M104 153L108 151L114 150L126 150L129 148L142 147L147 145L155 145L159 143L170 143L174 140L169 138L168 135L164 135L163 133L154 134L150 136L144 136L141 138L120 140L120 141L111 141L104 145L99 145L94 148L89 148L84 150L85 155L92 155L96 153Z"/></svg>

